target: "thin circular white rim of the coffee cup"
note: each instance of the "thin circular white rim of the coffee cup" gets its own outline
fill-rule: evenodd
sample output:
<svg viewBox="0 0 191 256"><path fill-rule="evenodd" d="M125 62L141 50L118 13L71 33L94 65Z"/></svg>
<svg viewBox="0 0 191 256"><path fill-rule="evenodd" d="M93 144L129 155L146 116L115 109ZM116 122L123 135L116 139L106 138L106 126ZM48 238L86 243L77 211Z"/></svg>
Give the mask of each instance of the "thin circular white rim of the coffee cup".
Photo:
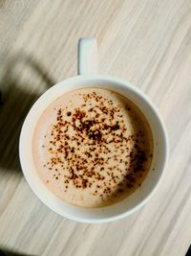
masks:
<svg viewBox="0 0 191 256"><path fill-rule="evenodd" d="M116 82L116 83L120 83L123 84L125 86L128 87L129 90L132 90L134 92L136 92L138 94L138 96L140 98L142 98L144 100L144 102L146 102L147 105L150 105L150 107L153 109L155 115L157 116L157 118L159 119L159 123L160 123L160 128L162 130L163 136L164 136L164 151L165 151L165 157L162 163L162 171L161 174L159 175L159 179L156 183L156 185L154 186L154 188L152 189L152 191L150 192L150 194L148 196L146 196L146 198L144 198L143 200L141 200L136 206L134 206L133 208L131 208L128 211L124 211L121 214L112 216L112 217L105 217L105 218L100 218L100 219L84 219L84 218L80 218L80 217L76 217L74 215L69 215L66 213L61 213L58 212L56 209L53 209L52 205L50 205L45 198L42 198L37 191L35 191L35 188L32 185L30 176L28 175L28 171L26 168L26 165L24 163L24 159L23 159L23 149L25 148L24 144L26 144L26 142L24 141L23 138L23 134L26 132L26 128L27 128L27 124L30 121L30 114L32 112L32 109L34 107L34 105L38 104L44 97L46 97L47 94L50 94L51 92L53 92L54 90L56 90L58 88L58 86L61 86L63 83L67 83L67 82L71 82L71 81L89 81L89 80L95 80L95 81L108 81L108 82ZM74 90L76 88L72 87L71 91ZM59 96L58 96L59 97ZM53 100L52 100L53 102ZM46 106L44 106L43 110L46 108ZM36 124L36 123L35 123ZM33 129L32 129L33 131ZM48 206L49 208L51 208L55 213L61 215L64 218L67 218L69 220L72 221L78 221L78 222L86 222L86 223L98 223L98 222L109 222L109 221L117 221L119 219L122 219L124 217L127 217L131 214L133 214L134 212L138 211L139 208L141 208L143 205L145 205L147 203L147 201L152 198L152 196L154 195L154 193L157 191L157 189L159 188L159 184L161 182L161 179L163 178L164 175L164 171L167 165L167 161L168 161L168 157L169 157L169 142L168 142L168 136L167 136L167 131L166 128L164 126L163 120L161 119L160 115L159 115L159 111L157 109L157 107L153 104L153 102L143 93L141 92L138 87L128 81L124 81L122 79L119 79L117 77L112 77L112 76L106 76L106 75L83 75L83 76L75 76L63 81L59 81L58 83L54 84L51 88L49 88L47 91L45 91L38 99L37 101L32 105L30 111L27 114L27 117L23 123L23 127L21 129L20 132L20 139L19 139L19 159L20 159L20 164L22 167L22 172L25 176L25 178L28 181L28 184L30 185L32 192L36 195L37 198L39 198L46 206Z"/></svg>

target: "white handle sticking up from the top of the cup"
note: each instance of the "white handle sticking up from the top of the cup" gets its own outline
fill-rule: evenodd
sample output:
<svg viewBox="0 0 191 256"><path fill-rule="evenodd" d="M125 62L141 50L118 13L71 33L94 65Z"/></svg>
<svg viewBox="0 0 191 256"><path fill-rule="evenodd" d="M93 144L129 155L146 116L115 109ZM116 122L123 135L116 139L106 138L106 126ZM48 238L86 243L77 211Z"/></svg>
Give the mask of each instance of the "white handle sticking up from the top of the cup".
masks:
<svg viewBox="0 0 191 256"><path fill-rule="evenodd" d="M95 38L80 38L77 50L77 74L97 74L97 43Z"/></svg>

